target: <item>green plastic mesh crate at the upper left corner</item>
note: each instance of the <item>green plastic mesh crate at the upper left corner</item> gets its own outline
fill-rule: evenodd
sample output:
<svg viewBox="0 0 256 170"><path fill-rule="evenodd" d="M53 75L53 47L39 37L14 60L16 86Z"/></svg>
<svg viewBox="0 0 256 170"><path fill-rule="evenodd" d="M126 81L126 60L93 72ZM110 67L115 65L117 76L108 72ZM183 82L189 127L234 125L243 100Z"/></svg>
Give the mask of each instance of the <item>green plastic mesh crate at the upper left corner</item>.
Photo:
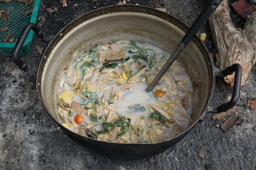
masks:
<svg viewBox="0 0 256 170"><path fill-rule="evenodd" d="M4 10L4 12L9 11L9 20L3 20L3 13L2 17L0 18L0 29L3 27L9 27L6 31L0 31L0 56L11 56L13 47L15 43L9 43L9 39L12 37L14 39L18 39L20 33L22 32L23 28L29 22L36 23L36 18L38 15L38 10L40 6L40 0L35 0L34 5L26 6L25 3L19 3L18 1L12 1L11 3L0 3L0 10ZM32 10L32 13L28 13L25 15L26 11ZM7 43L3 43L4 38L9 31L12 31L10 38L8 39ZM29 31L28 37L22 46L19 55L29 55L31 41L33 39L33 31Z"/></svg>

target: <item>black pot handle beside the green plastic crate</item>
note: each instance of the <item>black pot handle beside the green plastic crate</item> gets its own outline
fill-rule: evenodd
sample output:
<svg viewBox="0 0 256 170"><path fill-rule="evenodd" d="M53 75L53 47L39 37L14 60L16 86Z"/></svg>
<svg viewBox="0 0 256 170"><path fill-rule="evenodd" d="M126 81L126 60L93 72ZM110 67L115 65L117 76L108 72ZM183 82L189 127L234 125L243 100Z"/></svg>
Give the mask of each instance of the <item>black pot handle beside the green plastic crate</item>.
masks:
<svg viewBox="0 0 256 170"><path fill-rule="evenodd" d="M28 71L28 66L24 62L22 62L22 60L20 60L19 52L20 52L20 49L21 49L22 45L24 44L24 42L28 36L28 33L31 29L35 32L36 35L38 35L38 36L40 36L40 38L42 38L42 31L40 29L38 29L38 27L36 27L36 24L28 23L22 30L20 37L12 51L12 57L13 57L15 64L17 66L19 66L19 68L25 72Z"/></svg>

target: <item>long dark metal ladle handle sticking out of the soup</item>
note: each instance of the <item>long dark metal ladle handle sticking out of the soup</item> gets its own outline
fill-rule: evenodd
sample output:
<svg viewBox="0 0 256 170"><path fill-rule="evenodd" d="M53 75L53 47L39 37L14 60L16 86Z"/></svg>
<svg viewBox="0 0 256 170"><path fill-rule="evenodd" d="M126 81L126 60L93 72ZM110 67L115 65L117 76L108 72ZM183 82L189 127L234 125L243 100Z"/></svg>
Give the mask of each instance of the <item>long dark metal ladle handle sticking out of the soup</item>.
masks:
<svg viewBox="0 0 256 170"><path fill-rule="evenodd" d="M151 92L158 81L162 78L162 76L166 73L166 71L169 69L170 66L172 66L173 62L177 59L177 57L180 55L180 53L184 50L186 45L188 45L189 41L193 38L193 36L196 34L198 29L201 25L204 24L204 22L211 16L211 14L216 10L216 8L219 6L222 0L211 0L206 8L200 13L198 18L196 18L193 25L189 28L188 32L185 34L185 36L180 41L179 45L175 48L172 55L170 55L167 62L164 64L164 66L161 68L161 70L157 73L156 77L150 83L148 88L146 89L147 92Z"/></svg>

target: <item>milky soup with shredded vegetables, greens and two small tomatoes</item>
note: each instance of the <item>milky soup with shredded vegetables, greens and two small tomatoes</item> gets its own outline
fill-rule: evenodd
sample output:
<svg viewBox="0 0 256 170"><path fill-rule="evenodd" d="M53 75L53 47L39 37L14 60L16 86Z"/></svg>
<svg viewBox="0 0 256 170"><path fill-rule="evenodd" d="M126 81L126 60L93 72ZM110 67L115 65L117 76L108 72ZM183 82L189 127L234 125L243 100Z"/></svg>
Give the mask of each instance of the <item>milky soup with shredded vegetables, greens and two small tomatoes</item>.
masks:
<svg viewBox="0 0 256 170"><path fill-rule="evenodd" d="M115 143L157 143L191 122L193 83L175 61L152 92L145 91L169 57L135 41L98 45L61 73L58 117L83 136Z"/></svg>

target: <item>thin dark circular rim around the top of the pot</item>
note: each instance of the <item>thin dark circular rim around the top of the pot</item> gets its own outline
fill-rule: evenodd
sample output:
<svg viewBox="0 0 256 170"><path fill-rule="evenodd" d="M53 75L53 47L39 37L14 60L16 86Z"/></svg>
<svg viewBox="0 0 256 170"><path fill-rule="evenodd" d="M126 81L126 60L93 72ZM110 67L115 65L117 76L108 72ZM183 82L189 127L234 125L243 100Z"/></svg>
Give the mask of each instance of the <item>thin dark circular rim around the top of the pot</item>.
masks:
<svg viewBox="0 0 256 170"><path fill-rule="evenodd" d="M61 31L58 32L58 34L56 34L56 36L54 36L54 38L51 40L51 43L49 43L49 45L47 46L47 48L44 51L44 54L42 55L42 59L40 61L40 65L38 67L38 72L37 72L37 76L36 76L36 91L38 92L38 96L40 98L40 101L42 103L42 105L44 106L45 110L47 111L48 115L52 118L52 120L54 120L54 122L56 122L56 124L58 124L61 128L65 128L63 127L63 125L61 125L57 120L55 120L52 115L49 113L49 111L47 110L44 101L42 99L42 93L41 93L41 87L40 87L40 82L42 80L42 73L44 71L44 65L47 62L47 58L50 52L51 52L51 48L54 48L52 46L55 46L56 43L58 43L58 41L61 40L61 38L63 37L62 35L65 34L66 32L68 32L68 29L72 29L73 27L76 27L76 25L79 25L83 22L85 22L86 20L90 20L102 15L107 15L109 13L120 13L120 12L134 12L134 13L143 13L143 14L147 14L147 15L153 15L154 17L158 17L161 18L162 20L166 20L167 22L170 22L170 20L172 20L172 24L175 24L177 27L179 27L179 29L181 29L184 32L187 32L189 27L184 24L184 22L182 22L181 20L179 20L176 17L173 17L172 15L169 15L168 13L165 13L163 11L160 10L156 10L155 8L151 8L148 6L141 6L141 5L115 5L115 6L106 6L103 8L99 8L96 10L92 10L88 13L84 13L84 15L81 15L80 17L76 18L75 20L72 20L72 22L70 22L69 24L67 24L65 27L63 27L63 29L61 29ZM74 26L75 25L75 26ZM202 115L200 116L200 118L198 118L193 125L191 125L190 127L188 127L188 129L186 129L185 131L183 131L182 133L180 133L179 135L175 136L174 138L170 138L166 141L161 141L161 142L157 142L157 143L113 143L113 142L108 142L108 141L99 141L97 139L93 139L87 136L83 136L81 134L77 134L76 132L70 131L69 129L65 128L65 130L68 130L82 138L85 139L91 139L93 141L97 141L97 142L102 142L102 143L108 143L108 144L115 144L115 145L156 145L156 144L160 144L160 143L166 143L168 141L171 141L173 139L176 138L180 138L182 136L184 136L184 134L186 134L187 132L191 131L191 129L193 127L195 127L195 125L200 121L203 120L203 118L205 117L205 114L207 113L207 108L209 107L209 103L212 99L213 96L213 89L215 89L215 66L214 66L214 62L211 59L209 52L207 50L207 48L205 47L204 43L202 43L202 41L200 40L200 38L198 38L198 36L193 36L193 38L191 39L191 41L194 41L194 43L196 43L196 45L198 46L200 52L204 53L205 57L207 57L211 63L209 64L209 66L211 67L211 73L212 74L212 86L211 89L209 89L211 92L209 92L209 99L207 99L207 102L205 103L204 106L204 113L202 113Z"/></svg>

